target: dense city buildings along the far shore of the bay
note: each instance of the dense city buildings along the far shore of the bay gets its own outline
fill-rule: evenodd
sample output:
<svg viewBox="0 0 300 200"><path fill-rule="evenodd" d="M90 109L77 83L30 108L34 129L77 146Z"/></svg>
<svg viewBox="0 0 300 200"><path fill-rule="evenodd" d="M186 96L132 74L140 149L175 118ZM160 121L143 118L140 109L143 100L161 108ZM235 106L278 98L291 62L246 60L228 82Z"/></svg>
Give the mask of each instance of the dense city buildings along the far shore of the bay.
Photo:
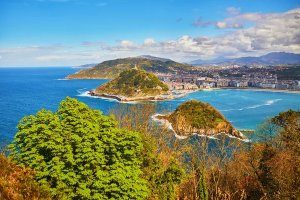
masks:
<svg viewBox="0 0 300 200"><path fill-rule="evenodd" d="M169 89L215 89L223 87L264 88L300 90L300 77L297 80L280 79L277 73L288 67L232 65L217 68L194 67L190 71L159 73L155 75L167 84Z"/></svg>

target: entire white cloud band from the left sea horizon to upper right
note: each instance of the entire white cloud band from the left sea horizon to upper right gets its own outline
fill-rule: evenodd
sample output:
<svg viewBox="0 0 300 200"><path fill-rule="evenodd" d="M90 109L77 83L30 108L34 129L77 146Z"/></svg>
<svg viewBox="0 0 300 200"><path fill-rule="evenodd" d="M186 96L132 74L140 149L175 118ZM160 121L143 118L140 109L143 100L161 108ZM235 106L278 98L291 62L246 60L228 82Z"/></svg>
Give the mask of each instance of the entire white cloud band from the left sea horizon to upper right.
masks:
<svg viewBox="0 0 300 200"><path fill-rule="evenodd" d="M164 41L145 38L140 43L116 39L117 45L84 41L81 44L86 48L84 47L84 52L81 53L69 52L74 49L61 44L2 48L0 49L2 56L0 65L13 61L24 65L26 60L30 61L30 63L28 61L29 64L36 61L36 65L39 66L40 63L50 65L50 63L55 63L55 60L59 60L61 65L63 63L70 65L68 63L78 61L79 65L79 63L84 64L83 61L92 63L140 54L167 57L175 61L189 61L199 58L214 58L220 55L228 57L259 56L271 51L300 53L300 19L298 16L300 16L300 8L277 13L239 13L222 21L201 21L199 18L195 25L213 24L216 28L239 28L246 21L255 25L245 29L226 31L222 35L213 37L183 35L174 40ZM93 48L93 46L99 45L101 45L101 50Z"/></svg>

